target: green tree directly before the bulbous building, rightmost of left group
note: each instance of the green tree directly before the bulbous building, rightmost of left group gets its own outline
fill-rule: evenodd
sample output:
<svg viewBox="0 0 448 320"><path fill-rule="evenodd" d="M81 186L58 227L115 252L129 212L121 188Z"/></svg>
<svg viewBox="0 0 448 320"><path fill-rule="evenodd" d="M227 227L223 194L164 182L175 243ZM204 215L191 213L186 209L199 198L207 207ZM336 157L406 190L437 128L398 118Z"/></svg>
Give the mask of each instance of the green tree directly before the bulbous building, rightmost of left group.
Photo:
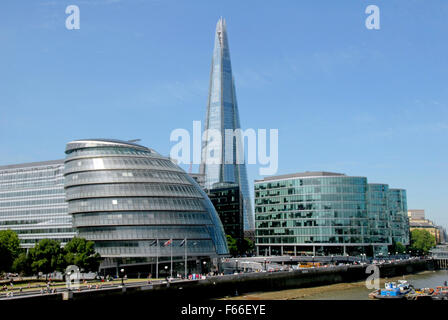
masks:
<svg viewBox="0 0 448 320"><path fill-rule="evenodd" d="M85 271L97 271L101 256L95 252L93 241L73 238L64 247L67 265L76 265Z"/></svg>

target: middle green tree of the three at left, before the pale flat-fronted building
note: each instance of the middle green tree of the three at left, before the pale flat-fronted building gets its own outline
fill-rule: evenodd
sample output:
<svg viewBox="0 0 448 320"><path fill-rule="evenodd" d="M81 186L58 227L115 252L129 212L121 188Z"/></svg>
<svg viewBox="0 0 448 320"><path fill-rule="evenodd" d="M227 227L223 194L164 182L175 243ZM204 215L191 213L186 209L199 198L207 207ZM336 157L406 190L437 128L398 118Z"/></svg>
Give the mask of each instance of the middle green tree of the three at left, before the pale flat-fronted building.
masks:
<svg viewBox="0 0 448 320"><path fill-rule="evenodd" d="M29 254L32 261L31 269L35 273L62 271L66 266L61 244L56 240L40 240L30 249Z"/></svg>

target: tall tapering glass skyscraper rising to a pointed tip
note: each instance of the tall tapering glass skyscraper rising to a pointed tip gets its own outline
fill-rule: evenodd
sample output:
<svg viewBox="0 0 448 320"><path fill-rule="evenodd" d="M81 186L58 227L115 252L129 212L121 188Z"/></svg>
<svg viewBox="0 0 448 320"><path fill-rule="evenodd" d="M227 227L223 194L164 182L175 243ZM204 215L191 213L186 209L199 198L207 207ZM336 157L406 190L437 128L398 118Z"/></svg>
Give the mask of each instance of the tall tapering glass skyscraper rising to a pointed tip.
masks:
<svg viewBox="0 0 448 320"><path fill-rule="evenodd" d="M219 184L236 184L239 186L243 198L244 230L254 230L254 213L247 181L246 165L245 161L237 161L238 143L242 146L242 139L241 136L232 137L233 146L226 150L226 129L240 129L240 120L230 63L226 22L223 18L220 18L216 25L205 132L218 130L221 133L221 161L219 164L208 161L211 156L215 155L208 152L207 147L211 141L206 136L202 145L200 173L205 175L205 187L208 189L213 189L214 186ZM244 157L244 151L241 154ZM231 160L229 161L229 159Z"/></svg>

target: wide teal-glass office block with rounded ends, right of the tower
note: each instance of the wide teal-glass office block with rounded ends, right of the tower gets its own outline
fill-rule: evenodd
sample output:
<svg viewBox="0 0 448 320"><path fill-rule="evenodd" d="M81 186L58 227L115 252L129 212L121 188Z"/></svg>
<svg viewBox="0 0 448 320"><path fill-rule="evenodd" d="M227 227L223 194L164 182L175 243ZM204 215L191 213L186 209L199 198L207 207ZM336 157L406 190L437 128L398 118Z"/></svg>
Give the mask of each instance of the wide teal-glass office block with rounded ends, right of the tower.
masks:
<svg viewBox="0 0 448 320"><path fill-rule="evenodd" d="M409 244L406 191L341 173L256 180L255 221L260 255L387 255Z"/></svg>

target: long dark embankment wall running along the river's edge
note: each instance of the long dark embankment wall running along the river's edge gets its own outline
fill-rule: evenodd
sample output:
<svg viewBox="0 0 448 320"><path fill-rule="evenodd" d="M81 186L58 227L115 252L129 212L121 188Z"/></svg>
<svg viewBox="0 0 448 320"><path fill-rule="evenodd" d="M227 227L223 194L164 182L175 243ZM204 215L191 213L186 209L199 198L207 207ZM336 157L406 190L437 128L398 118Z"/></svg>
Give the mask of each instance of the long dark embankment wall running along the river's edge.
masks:
<svg viewBox="0 0 448 320"><path fill-rule="evenodd" d="M252 272L207 277L201 280L159 281L148 284L147 281L134 282L124 286L116 285L101 289L67 291L52 294L35 294L24 297L2 299L9 302L34 301L98 301L127 299L182 299L210 300L226 296L235 296L250 292L265 292L292 288L309 288L336 283L350 283L367 279L368 264L341 265L320 268L278 272ZM403 260L377 265L381 278L412 274L433 268L431 260Z"/></svg>

